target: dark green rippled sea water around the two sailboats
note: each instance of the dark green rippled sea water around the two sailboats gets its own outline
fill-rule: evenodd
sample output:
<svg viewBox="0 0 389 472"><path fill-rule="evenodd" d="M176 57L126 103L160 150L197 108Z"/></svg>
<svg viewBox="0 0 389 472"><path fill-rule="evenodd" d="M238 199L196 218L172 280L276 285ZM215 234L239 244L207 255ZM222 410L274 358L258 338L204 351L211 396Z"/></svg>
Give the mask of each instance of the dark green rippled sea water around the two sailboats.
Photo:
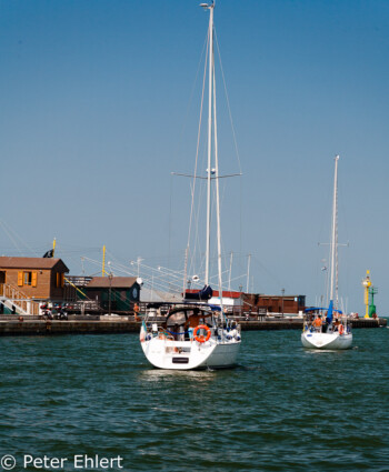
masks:
<svg viewBox="0 0 389 472"><path fill-rule="evenodd" d="M0 458L16 471L387 472L389 330L353 337L313 352L299 331L247 332L240 365L213 372L151 369L133 334L2 338ZM24 454L66 462L24 469ZM82 454L122 461L74 469Z"/></svg>

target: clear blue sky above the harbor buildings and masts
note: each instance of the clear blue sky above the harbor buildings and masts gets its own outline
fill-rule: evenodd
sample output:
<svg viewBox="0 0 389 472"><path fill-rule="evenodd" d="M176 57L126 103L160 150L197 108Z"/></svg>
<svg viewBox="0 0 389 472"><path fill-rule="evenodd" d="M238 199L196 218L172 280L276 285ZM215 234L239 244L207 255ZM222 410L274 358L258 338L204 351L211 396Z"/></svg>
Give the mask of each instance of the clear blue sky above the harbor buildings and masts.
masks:
<svg viewBox="0 0 389 472"><path fill-rule="evenodd" d="M102 244L182 267L190 197L170 172L194 162L198 3L0 0L0 220L31 248L2 231L2 253L56 237L74 274ZM222 187L235 274L251 253L255 292L315 303L339 153L340 294L361 313L370 269L386 314L389 3L218 0L215 21L243 173ZM221 171L239 172L217 87Z"/></svg>

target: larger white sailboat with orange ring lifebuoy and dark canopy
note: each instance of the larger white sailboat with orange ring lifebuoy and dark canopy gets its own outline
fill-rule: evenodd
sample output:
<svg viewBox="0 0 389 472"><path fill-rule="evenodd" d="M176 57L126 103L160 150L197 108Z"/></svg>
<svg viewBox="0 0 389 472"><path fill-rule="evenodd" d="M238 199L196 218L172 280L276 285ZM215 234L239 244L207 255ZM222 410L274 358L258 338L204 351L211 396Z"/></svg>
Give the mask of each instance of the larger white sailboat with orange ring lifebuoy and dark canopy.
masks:
<svg viewBox="0 0 389 472"><path fill-rule="evenodd" d="M209 11L208 30L208 169L207 169L207 241L205 288L196 301L171 308L162 323L144 319L140 331L140 343L148 361L159 369L191 370L221 369L236 364L241 344L240 327L227 319L222 303L221 235L219 163L216 123L216 86L213 59L213 9L215 2L201 3ZM213 125L212 125L213 124ZM212 133L213 130L213 133ZM213 162L212 162L213 140ZM194 175L196 178L196 175ZM212 289L209 285L211 181L216 184L218 280L220 305L210 305ZM193 297L191 297L193 298Z"/></svg>

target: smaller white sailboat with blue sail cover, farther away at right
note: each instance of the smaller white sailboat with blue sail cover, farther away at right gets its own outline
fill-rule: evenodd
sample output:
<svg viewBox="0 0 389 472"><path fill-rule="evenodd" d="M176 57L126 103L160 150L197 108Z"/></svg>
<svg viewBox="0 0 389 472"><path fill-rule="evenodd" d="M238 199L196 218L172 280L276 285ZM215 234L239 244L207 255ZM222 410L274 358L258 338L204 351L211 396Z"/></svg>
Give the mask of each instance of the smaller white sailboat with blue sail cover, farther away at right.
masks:
<svg viewBox="0 0 389 472"><path fill-rule="evenodd" d="M305 348L340 350L352 344L351 327L347 315L338 309L338 161L335 158L332 228L330 243L330 302L327 313L322 308L309 309L306 313L301 342ZM335 293L335 300L333 300Z"/></svg>

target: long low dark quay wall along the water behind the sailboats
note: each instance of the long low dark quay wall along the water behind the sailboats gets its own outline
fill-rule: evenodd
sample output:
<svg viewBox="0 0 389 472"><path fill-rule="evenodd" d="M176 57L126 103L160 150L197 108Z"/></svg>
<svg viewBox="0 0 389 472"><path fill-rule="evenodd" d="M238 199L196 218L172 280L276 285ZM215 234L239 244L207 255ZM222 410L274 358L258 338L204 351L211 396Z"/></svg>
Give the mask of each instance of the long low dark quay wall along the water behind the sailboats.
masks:
<svg viewBox="0 0 389 472"><path fill-rule="evenodd" d="M7 317L9 318L9 317ZM54 335L54 334L117 334L138 333L140 322L131 319L114 320L39 320L36 317L3 319L0 317L0 337L7 335ZM301 330L301 319L280 320L242 320L239 321L242 331L278 331ZM352 320L352 328L381 328L387 325L387 319Z"/></svg>

